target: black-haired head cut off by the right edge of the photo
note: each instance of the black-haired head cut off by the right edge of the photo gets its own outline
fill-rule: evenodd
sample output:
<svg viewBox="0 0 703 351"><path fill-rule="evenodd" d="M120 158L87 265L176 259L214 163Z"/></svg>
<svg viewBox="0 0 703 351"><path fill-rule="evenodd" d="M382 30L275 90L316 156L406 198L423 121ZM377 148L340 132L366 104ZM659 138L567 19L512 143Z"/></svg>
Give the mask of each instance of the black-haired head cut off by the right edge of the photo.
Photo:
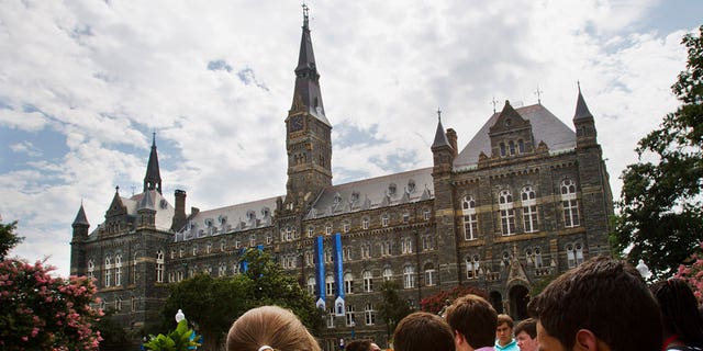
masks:
<svg viewBox="0 0 703 351"><path fill-rule="evenodd" d="M703 321L689 284L669 279L655 283L651 292L661 308L665 336L676 333L688 346L703 347Z"/></svg>

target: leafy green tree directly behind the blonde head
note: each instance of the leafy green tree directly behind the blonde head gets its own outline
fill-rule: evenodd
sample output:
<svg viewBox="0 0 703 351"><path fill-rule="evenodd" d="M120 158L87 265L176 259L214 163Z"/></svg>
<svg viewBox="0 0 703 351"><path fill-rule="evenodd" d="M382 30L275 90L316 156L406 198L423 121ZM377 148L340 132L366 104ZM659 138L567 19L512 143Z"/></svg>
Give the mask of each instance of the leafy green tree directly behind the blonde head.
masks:
<svg viewBox="0 0 703 351"><path fill-rule="evenodd" d="M294 275L287 274L269 253L258 249L248 249L239 259L239 264L244 262L247 269L242 274L228 278L198 274L171 284L161 313L161 328L172 325L175 312L180 308L197 325L204 347L214 349L242 314L258 306L278 305L291 309L311 332L320 330L321 312Z"/></svg>

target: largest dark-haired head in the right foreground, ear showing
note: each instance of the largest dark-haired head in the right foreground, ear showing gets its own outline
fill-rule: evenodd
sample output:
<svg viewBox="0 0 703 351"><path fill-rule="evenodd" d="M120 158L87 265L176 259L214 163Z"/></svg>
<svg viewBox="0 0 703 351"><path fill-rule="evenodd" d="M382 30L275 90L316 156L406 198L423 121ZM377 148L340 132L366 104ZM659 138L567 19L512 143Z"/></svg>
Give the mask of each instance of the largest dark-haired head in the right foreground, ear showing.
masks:
<svg viewBox="0 0 703 351"><path fill-rule="evenodd" d="M661 314L639 272L629 263L596 257L583 262L534 297L543 351L660 350Z"/></svg>

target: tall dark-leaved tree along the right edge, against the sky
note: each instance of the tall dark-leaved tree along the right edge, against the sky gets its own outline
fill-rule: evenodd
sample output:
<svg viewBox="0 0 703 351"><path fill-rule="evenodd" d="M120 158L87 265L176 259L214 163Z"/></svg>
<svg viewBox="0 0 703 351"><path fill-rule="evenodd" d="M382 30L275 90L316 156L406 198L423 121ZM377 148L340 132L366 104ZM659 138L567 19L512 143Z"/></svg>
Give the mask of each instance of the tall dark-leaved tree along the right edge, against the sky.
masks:
<svg viewBox="0 0 703 351"><path fill-rule="evenodd" d="M639 140L639 162L623 171L611 242L655 276L676 272L703 234L703 26L687 34L685 70L671 87L682 104ZM654 159L645 161L645 159Z"/></svg>

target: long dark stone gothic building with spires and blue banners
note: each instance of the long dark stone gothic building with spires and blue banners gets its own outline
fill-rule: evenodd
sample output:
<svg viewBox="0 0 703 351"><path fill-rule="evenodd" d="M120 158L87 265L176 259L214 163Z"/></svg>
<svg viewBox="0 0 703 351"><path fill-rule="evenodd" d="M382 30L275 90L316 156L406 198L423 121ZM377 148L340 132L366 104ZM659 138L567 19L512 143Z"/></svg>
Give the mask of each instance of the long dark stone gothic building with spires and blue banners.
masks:
<svg viewBox="0 0 703 351"><path fill-rule="evenodd" d="M332 124L306 14L294 72L284 194L187 213L185 191L174 205L161 194L154 140L142 193L125 197L118 188L92 231L81 205L70 273L96 278L122 325L156 320L169 283L237 274L249 247L270 251L327 310L327 350L353 335L386 343L377 313L384 281L399 282L414 306L472 285L522 319L535 284L610 254L609 174L580 90L573 129L540 103L506 101L461 150L439 118L429 168L333 184Z"/></svg>

